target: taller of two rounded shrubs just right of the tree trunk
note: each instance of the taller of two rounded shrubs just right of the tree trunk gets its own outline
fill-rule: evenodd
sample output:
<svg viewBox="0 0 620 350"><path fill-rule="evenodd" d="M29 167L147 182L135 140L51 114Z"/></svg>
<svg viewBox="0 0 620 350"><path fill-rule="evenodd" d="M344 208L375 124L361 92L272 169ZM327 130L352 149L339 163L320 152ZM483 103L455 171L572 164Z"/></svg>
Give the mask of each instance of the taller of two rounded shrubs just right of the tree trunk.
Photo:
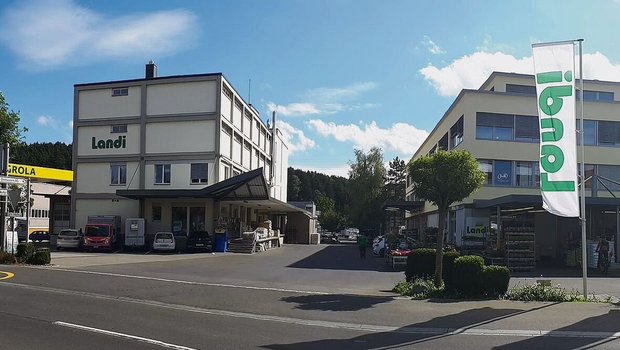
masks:
<svg viewBox="0 0 620 350"><path fill-rule="evenodd" d="M480 256L461 256L454 260L452 277L454 291L470 297L483 295L482 269L484 259Z"/></svg>

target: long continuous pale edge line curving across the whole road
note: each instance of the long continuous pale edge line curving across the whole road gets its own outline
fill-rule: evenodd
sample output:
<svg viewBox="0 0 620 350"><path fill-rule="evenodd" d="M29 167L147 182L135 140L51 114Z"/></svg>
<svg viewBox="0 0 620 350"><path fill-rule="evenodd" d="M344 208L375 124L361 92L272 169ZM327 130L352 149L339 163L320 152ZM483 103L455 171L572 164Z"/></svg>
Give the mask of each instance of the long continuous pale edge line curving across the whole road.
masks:
<svg viewBox="0 0 620 350"><path fill-rule="evenodd" d="M426 335L469 335L469 336L509 336L509 337L553 337L553 338L593 338L601 340L620 339L620 332L588 332L588 331L558 331L558 330L531 330L531 329L485 329L485 328L442 328L442 327L411 327L411 326L381 326L372 324L334 322L321 320L308 320L294 317L270 316L252 314L247 312L226 311L217 309L206 309L195 306L169 304L153 300L136 299L129 297L111 296L104 294L96 294L89 292L78 292L66 289L57 289L50 287L31 286L27 284L5 283L2 286L14 286L18 288L46 291L51 293L90 297L101 300L126 302L151 307L159 307L163 309L193 312L198 314L207 314L214 316L226 316L243 319L251 319L258 321L271 321L278 323L295 324L299 326L323 327L332 329L346 329L359 332L373 333L405 333L405 334L426 334Z"/></svg>

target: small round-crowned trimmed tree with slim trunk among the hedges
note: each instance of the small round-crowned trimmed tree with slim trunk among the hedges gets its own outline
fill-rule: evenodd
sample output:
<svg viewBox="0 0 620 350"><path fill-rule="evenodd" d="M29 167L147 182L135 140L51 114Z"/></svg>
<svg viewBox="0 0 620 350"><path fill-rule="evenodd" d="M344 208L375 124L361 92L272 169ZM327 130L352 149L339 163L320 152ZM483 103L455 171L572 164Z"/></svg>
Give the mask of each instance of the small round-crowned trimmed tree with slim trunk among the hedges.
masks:
<svg viewBox="0 0 620 350"><path fill-rule="evenodd" d="M423 156L408 165L413 191L417 198L437 206L439 232L435 255L435 286L441 285L445 222L450 205L462 201L478 190L485 175L467 151L439 151Z"/></svg>

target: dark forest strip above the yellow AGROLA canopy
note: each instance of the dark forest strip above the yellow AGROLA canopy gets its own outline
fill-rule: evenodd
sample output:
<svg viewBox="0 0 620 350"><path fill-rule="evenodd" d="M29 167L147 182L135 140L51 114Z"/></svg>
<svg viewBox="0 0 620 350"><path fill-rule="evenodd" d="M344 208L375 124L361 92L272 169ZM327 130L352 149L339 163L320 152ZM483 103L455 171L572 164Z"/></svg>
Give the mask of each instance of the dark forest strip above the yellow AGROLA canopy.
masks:
<svg viewBox="0 0 620 350"><path fill-rule="evenodd" d="M62 142L20 143L11 148L11 163L71 170L72 145Z"/></svg>

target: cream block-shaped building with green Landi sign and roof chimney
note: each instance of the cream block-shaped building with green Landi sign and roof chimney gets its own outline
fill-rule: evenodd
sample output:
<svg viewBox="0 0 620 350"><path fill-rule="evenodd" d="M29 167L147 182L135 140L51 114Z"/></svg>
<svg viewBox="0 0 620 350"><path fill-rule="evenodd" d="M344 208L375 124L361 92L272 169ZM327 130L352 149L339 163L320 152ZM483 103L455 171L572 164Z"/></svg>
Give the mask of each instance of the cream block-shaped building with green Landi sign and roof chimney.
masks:
<svg viewBox="0 0 620 350"><path fill-rule="evenodd" d="M158 77L150 62L144 79L77 84L74 100L74 227L120 215L145 218L147 234L234 236L305 215L286 204L275 116L263 121L221 73Z"/></svg>

